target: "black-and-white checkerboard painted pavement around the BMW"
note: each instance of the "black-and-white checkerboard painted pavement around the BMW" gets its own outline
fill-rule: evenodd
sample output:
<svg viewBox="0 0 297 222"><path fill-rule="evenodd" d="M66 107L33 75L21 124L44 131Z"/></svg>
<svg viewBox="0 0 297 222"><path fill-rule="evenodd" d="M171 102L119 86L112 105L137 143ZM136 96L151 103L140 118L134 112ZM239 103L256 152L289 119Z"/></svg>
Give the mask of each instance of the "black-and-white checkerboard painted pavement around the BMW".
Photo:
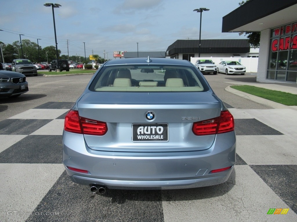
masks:
<svg viewBox="0 0 297 222"><path fill-rule="evenodd" d="M100 195L70 181L62 164L72 105L48 102L0 121L0 221L297 221L297 124L278 124L283 110L226 104L235 118L237 163L224 184ZM286 112L296 119L297 111ZM289 210L268 215L270 208Z"/></svg>

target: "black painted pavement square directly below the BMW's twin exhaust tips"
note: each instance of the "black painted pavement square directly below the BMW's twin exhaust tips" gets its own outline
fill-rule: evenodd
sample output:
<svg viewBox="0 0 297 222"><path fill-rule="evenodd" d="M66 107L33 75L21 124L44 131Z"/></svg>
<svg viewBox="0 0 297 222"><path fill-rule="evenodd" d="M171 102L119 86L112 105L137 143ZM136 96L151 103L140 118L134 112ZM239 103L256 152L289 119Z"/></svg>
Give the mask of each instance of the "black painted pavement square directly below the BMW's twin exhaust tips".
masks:
<svg viewBox="0 0 297 222"><path fill-rule="evenodd" d="M160 190L115 189L93 194L89 186L73 183L64 171L26 221L163 222L162 195Z"/></svg>

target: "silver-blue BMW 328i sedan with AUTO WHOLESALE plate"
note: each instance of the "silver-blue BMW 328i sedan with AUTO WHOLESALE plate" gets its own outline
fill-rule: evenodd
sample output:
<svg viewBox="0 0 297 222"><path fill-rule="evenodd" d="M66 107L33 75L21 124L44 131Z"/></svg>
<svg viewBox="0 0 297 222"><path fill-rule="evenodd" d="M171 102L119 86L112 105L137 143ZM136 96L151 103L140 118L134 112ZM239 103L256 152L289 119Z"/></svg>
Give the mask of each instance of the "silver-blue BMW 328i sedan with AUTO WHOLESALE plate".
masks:
<svg viewBox="0 0 297 222"><path fill-rule="evenodd" d="M109 60L65 117L63 163L93 193L221 184L235 154L233 116L186 60Z"/></svg>

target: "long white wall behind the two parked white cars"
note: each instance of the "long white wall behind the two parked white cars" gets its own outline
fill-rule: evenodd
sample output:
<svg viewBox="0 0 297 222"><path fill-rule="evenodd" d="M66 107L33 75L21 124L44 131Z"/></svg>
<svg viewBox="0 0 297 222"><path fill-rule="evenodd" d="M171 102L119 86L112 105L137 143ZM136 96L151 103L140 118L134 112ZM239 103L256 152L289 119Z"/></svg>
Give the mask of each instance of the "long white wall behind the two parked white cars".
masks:
<svg viewBox="0 0 297 222"><path fill-rule="evenodd" d="M201 54L200 54L201 56ZM224 60L240 62L247 69L247 73L257 73L259 58L241 58L241 57L191 57L191 62L194 64L198 59L211 59L215 64L219 64Z"/></svg>

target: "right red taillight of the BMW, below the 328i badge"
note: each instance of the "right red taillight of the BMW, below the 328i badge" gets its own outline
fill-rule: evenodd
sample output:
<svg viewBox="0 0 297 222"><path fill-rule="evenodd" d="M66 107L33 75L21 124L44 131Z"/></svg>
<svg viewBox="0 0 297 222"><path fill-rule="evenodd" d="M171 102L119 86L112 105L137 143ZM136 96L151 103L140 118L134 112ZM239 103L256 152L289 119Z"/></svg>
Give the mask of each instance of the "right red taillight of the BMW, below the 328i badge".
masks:
<svg viewBox="0 0 297 222"><path fill-rule="evenodd" d="M234 130L234 119L228 110L222 111L221 116L193 123L192 131L196 136L206 136L227 133Z"/></svg>

